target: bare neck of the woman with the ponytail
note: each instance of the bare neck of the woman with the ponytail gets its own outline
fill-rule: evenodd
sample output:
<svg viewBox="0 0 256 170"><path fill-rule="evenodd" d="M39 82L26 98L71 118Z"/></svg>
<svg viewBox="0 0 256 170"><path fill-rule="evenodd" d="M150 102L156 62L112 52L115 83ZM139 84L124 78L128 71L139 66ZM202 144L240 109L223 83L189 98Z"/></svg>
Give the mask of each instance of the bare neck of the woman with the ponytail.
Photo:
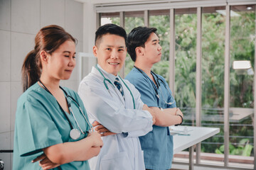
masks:
<svg viewBox="0 0 256 170"><path fill-rule="evenodd" d="M58 91L59 86L60 86L60 80L59 79L53 79L50 78L48 76L46 76L45 74L41 74L40 80L42 81L43 85L46 86L46 88L50 91L50 92L54 92L54 91Z"/></svg>

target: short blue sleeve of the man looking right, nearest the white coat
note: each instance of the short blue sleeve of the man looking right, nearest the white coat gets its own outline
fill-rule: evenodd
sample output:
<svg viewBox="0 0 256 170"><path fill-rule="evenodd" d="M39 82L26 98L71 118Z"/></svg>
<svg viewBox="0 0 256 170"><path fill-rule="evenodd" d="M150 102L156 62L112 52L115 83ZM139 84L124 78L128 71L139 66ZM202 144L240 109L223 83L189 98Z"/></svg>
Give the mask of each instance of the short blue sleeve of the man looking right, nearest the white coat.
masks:
<svg viewBox="0 0 256 170"><path fill-rule="evenodd" d="M137 77L137 79L128 79L141 94L141 99L149 107L157 106L157 97L154 87L150 86L151 82L146 77Z"/></svg>

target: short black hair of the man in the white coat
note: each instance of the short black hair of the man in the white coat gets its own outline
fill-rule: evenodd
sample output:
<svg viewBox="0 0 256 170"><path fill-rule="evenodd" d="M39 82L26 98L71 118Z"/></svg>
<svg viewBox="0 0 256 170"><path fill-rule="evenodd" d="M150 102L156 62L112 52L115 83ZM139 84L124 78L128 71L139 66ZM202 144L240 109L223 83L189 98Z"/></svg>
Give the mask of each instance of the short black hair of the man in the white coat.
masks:
<svg viewBox="0 0 256 170"><path fill-rule="evenodd" d="M100 26L100 28L98 28L95 32L95 45L97 40L100 40L100 38L106 34L119 35L120 37L124 38L125 42L127 40L127 33L125 32L124 28L112 23L107 23L103 26Z"/></svg>

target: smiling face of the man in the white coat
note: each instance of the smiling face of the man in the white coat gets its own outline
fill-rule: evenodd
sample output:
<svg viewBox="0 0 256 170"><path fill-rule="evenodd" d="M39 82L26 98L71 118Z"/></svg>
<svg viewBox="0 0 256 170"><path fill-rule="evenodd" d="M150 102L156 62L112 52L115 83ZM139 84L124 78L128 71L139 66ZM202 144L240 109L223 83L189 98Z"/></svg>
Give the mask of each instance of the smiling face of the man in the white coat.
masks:
<svg viewBox="0 0 256 170"><path fill-rule="evenodd" d="M102 69L117 76L127 54L125 40L119 35L102 35L102 38L97 40L93 47L93 54L97 57L98 64Z"/></svg>

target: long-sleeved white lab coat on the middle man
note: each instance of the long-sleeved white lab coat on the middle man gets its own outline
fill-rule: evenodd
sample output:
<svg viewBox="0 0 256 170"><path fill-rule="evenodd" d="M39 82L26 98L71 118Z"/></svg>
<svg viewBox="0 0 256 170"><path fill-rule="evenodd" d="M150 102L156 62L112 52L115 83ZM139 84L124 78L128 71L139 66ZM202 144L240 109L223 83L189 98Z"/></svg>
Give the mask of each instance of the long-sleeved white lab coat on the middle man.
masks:
<svg viewBox="0 0 256 170"><path fill-rule="evenodd" d="M100 68L100 66L98 65ZM115 76L107 74L100 68L102 74L114 84ZM152 130L152 116L148 111L142 111L144 103L135 87L124 80L132 91L135 101L127 87L122 84L124 98L116 86L105 81L110 89L107 91L100 72L92 67L92 72L80 82L78 94L85 105L88 115L100 122L117 135L102 137L103 147L96 158L90 160L93 170L142 170L144 157L139 142L139 136Z"/></svg>

